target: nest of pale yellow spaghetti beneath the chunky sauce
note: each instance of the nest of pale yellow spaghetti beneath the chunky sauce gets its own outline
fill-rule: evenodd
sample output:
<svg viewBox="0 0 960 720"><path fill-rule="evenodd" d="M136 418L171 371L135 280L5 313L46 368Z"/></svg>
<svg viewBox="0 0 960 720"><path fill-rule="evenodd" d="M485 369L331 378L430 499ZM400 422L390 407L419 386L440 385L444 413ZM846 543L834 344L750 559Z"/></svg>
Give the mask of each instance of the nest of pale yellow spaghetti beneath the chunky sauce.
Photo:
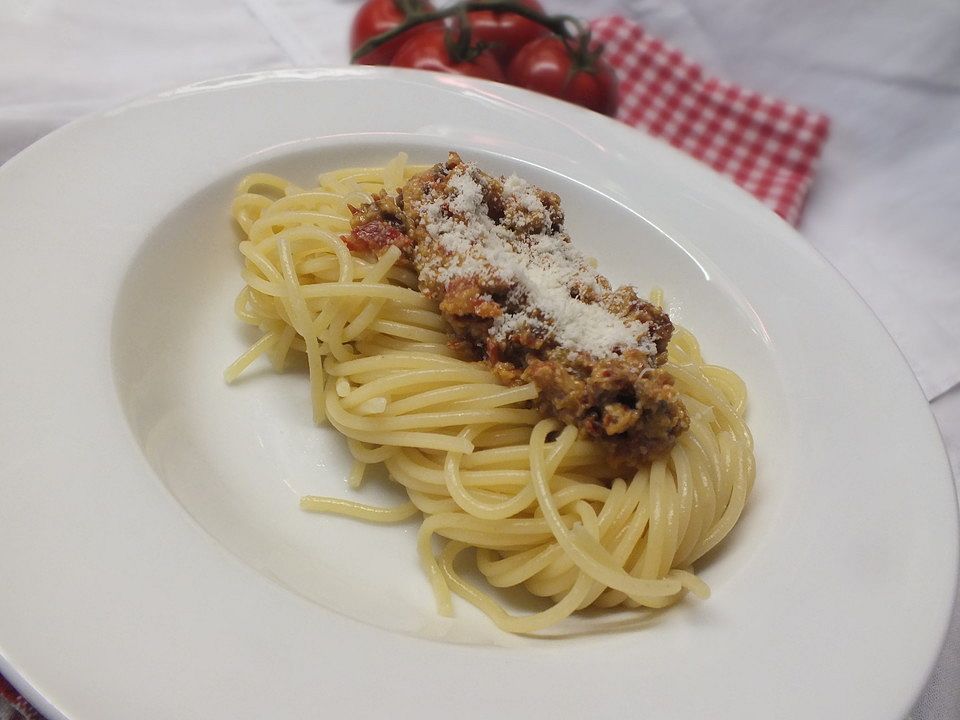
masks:
<svg viewBox="0 0 960 720"><path fill-rule="evenodd" d="M532 384L505 387L485 364L455 356L436 304L398 264L397 248L375 258L341 239L350 206L423 169L400 155L383 168L326 173L313 189L263 173L238 188L232 212L246 236L246 285L235 310L262 336L227 380L261 355L279 371L305 354L314 418L346 437L350 484L383 463L409 496L396 508L318 497L301 506L374 522L422 513L418 551L440 612L452 613L452 591L510 632L591 606L707 597L693 564L733 528L754 479L743 382L706 364L693 334L677 328L665 367L690 428L669 455L616 477L603 448L532 409ZM651 300L662 304L660 293ZM492 588L522 585L549 602L509 613L495 590L458 571L461 556Z"/></svg>

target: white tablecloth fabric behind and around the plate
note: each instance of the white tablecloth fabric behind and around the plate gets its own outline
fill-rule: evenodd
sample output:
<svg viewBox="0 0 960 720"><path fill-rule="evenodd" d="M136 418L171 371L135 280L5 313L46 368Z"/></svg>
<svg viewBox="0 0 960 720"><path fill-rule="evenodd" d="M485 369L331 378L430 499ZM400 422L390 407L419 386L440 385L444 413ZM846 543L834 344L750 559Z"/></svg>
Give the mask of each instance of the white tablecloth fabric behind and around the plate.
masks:
<svg viewBox="0 0 960 720"><path fill-rule="evenodd" d="M897 341L960 477L960 1L543 2L625 14L717 74L831 116L801 231ZM155 90L343 64L359 4L0 0L0 163L75 117ZM917 719L960 718L956 611L953 625Z"/></svg>

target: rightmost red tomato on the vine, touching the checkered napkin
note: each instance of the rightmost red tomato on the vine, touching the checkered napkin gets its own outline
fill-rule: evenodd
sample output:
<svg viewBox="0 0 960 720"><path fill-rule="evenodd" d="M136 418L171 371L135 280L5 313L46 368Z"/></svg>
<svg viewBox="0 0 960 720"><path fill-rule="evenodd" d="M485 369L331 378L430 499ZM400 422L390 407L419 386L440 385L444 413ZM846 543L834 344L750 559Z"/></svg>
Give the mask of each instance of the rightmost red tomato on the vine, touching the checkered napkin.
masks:
<svg viewBox="0 0 960 720"><path fill-rule="evenodd" d="M555 35L534 40L517 53L507 70L507 82L577 105L614 115L617 78L603 58L578 67L575 53Z"/></svg>

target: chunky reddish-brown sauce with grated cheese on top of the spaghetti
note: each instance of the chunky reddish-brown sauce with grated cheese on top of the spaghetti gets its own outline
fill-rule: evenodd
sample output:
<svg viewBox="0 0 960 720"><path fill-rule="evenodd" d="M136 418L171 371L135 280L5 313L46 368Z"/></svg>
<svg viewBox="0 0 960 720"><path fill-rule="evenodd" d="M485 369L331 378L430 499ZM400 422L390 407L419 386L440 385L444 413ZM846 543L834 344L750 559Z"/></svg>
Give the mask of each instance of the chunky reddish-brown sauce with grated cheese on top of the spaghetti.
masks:
<svg viewBox="0 0 960 720"><path fill-rule="evenodd" d="M533 382L541 411L609 448L625 468L662 454L689 425L661 365L670 318L613 289L570 242L560 198L495 178L451 153L396 195L358 209L354 250L396 245L440 303L454 344L502 382Z"/></svg>

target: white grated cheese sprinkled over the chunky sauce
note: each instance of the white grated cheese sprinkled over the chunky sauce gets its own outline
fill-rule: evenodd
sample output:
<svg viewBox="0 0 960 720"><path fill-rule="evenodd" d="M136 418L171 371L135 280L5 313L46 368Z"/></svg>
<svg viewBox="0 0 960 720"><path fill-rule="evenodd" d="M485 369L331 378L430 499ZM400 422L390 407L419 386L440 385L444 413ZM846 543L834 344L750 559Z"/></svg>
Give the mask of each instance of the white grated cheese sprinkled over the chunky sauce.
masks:
<svg viewBox="0 0 960 720"><path fill-rule="evenodd" d="M490 328L499 342L527 329L552 335L574 353L613 357L636 348L655 355L645 323L624 320L573 296L586 293L598 299L605 289L591 260L562 229L552 228L536 188L516 175L505 178L504 217L498 222L489 216L479 178L473 165L458 166L447 179L447 192L417 208L429 239L446 251L432 254L421 268L421 280L446 285L474 278L507 288L504 314ZM526 232L528 227L543 231Z"/></svg>

